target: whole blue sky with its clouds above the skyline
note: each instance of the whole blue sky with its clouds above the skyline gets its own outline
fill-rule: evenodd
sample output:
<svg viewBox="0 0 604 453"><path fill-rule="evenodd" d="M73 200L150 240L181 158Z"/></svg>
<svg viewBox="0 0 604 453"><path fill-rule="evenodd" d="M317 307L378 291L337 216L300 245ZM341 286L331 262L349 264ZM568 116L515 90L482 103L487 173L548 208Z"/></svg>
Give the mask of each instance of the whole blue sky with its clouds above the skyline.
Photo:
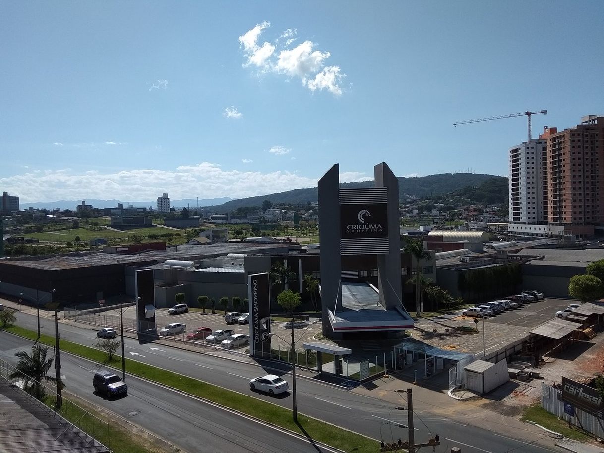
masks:
<svg viewBox="0 0 604 453"><path fill-rule="evenodd" d="M242 198L467 170L604 114L600 1L0 3L0 190Z"/></svg>

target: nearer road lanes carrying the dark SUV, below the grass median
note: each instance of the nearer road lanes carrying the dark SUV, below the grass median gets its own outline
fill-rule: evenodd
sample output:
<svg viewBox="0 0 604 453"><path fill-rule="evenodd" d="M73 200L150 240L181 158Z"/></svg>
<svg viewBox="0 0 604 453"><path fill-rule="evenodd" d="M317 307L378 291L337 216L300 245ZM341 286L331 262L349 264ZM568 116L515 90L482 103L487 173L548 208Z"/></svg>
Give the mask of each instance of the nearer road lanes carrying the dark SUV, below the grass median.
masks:
<svg viewBox="0 0 604 453"><path fill-rule="evenodd" d="M27 339L0 332L0 357L15 365L18 359L14 353L29 350L32 344ZM127 377L127 396L108 400L92 388L92 376L99 369L106 368L66 353L61 355L66 391L140 425L184 451L331 451L315 448L294 435L133 376Z"/></svg>

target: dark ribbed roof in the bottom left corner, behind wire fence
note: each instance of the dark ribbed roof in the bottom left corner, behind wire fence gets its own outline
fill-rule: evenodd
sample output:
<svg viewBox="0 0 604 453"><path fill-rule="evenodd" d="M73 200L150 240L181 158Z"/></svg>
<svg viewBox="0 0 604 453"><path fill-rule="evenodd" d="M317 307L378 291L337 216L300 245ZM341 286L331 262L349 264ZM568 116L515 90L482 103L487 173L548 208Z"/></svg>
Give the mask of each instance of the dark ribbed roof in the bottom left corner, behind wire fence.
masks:
<svg viewBox="0 0 604 453"><path fill-rule="evenodd" d="M109 449L0 377L0 449L10 453L92 453Z"/></svg>

